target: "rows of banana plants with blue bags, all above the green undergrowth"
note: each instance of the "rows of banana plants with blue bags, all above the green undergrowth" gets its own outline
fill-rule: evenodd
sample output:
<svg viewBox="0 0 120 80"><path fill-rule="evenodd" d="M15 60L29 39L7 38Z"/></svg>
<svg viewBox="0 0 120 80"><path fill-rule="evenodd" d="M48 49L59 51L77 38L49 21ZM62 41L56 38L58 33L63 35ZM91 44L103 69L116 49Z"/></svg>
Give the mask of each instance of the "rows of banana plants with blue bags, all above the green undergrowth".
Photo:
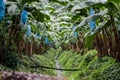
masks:
<svg viewBox="0 0 120 80"><path fill-rule="evenodd" d="M62 47L120 61L120 1L0 0L0 62Z"/></svg>

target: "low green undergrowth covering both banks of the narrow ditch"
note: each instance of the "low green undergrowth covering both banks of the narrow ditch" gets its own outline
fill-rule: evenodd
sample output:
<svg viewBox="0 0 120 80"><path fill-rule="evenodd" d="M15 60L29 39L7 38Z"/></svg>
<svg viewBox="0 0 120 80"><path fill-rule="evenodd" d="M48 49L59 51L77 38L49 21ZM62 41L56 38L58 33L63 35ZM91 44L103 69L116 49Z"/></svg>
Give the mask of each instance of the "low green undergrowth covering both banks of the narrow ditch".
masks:
<svg viewBox="0 0 120 80"><path fill-rule="evenodd" d="M55 56L61 68L80 69L79 71L62 71L62 75L68 80L119 80L120 64L111 57L98 58L95 50L88 51L85 55L73 53L73 51L62 51L61 48L50 49L43 55L33 55L32 57L22 56L22 61L17 67L17 71L36 72L46 75L57 75L56 70L30 68L32 65L44 65L55 67ZM3 70L10 70L0 67ZM1 69L1 70L2 70Z"/></svg>

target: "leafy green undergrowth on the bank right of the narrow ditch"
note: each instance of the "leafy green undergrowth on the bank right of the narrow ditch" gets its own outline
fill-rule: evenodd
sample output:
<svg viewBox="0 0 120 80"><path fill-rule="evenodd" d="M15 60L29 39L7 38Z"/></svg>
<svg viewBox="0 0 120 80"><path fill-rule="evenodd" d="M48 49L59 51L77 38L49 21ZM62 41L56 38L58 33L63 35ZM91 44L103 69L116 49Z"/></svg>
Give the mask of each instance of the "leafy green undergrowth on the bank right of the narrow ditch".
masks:
<svg viewBox="0 0 120 80"><path fill-rule="evenodd" d="M59 60L64 68L81 69L76 72L64 71L64 75L69 80L119 80L119 63L115 63L114 59L107 56L98 58L96 51L89 51L82 56L65 51L60 55ZM114 68L115 66L118 68ZM115 75L111 77L112 74Z"/></svg>

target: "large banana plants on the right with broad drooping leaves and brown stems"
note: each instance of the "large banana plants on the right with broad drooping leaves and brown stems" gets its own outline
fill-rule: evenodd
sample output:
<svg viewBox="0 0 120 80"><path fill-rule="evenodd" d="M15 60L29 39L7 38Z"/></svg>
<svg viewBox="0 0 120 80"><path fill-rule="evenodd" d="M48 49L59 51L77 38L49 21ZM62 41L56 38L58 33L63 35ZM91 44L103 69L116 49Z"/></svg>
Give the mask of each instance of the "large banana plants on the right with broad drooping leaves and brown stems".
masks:
<svg viewBox="0 0 120 80"><path fill-rule="evenodd" d="M111 7L111 5L113 7ZM90 7L94 7L95 14L88 17L82 16L80 24L77 26L76 31L81 30L81 27L85 28L88 26L89 21L96 21L96 28L92 31L88 28L87 32L84 34L85 46L91 48L93 43L98 52L102 55L109 55L117 60L119 60L119 9L120 2L117 0L108 0L108 1L84 1L75 5L71 12L76 15L77 11L87 11ZM86 11L86 13L87 13ZM116 13L114 13L116 11ZM89 13L87 13L89 14ZM111 32L110 32L111 31ZM111 38L111 39L110 39ZM95 41L95 42L94 42ZM110 47L110 44L112 46ZM97 45L97 46L96 46ZM103 46L101 48L100 46ZM106 53L106 54L104 54ZM114 53L114 54L112 54Z"/></svg>

